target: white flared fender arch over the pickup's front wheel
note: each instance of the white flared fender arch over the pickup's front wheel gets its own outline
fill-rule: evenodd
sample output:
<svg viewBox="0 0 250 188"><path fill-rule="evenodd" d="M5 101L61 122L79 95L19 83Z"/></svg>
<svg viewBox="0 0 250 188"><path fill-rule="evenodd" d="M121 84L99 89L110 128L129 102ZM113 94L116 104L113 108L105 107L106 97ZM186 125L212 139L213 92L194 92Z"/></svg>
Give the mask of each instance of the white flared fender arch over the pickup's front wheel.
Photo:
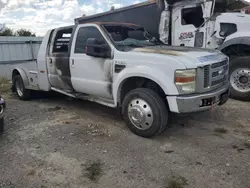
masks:
<svg viewBox="0 0 250 188"><path fill-rule="evenodd" d="M120 91L123 82L127 78L131 77L142 77L156 82L162 88L166 95L169 95L170 93L171 95L178 94L178 90L175 84L173 83L173 79L170 78L165 72L152 67L137 66L124 69L115 79L113 83L113 96L115 104L117 104L117 102L119 101Z"/></svg>

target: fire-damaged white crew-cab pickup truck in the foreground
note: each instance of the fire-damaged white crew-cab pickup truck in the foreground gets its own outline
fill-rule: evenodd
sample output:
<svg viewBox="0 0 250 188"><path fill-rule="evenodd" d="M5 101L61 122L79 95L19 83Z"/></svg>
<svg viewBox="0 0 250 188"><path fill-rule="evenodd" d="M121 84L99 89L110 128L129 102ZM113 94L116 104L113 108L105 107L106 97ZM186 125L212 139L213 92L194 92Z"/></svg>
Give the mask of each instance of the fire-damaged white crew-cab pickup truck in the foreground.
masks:
<svg viewBox="0 0 250 188"><path fill-rule="evenodd" d="M14 68L12 83L22 100L31 90L53 90L121 108L132 132L151 137L169 112L224 104L228 62L220 51L163 45L134 24L89 23L48 31L37 68Z"/></svg>

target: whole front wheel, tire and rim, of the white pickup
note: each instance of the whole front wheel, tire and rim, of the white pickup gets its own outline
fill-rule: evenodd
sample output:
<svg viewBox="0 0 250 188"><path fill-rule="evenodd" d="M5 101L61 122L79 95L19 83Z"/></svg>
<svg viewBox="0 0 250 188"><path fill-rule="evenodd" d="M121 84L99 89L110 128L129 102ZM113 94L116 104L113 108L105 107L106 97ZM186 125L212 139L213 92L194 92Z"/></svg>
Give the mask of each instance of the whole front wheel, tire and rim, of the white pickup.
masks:
<svg viewBox="0 0 250 188"><path fill-rule="evenodd" d="M147 88L134 89L125 96L122 115L128 128L141 137L162 133L168 123L165 102L156 92Z"/></svg>

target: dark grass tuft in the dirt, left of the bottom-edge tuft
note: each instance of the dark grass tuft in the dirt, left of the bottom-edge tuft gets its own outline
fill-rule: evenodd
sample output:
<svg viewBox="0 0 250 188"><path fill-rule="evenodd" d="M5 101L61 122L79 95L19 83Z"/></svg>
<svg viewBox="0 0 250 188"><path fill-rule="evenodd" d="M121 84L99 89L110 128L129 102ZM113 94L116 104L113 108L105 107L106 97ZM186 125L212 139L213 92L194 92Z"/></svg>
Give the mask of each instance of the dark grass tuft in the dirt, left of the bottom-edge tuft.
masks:
<svg viewBox="0 0 250 188"><path fill-rule="evenodd" d="M100 161L93 161L86 166L85 171L90 180L96 181L103 173L102 164Z"/></svg>

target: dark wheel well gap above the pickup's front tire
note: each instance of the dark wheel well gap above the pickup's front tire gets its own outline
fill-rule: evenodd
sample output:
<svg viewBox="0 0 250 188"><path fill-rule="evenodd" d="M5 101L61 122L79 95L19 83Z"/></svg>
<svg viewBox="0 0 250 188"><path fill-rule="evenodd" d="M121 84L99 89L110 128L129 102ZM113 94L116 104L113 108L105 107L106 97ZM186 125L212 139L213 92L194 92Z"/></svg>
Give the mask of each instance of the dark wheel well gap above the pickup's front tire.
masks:
<svg viewBox="0 0 250 188"><path fill-rule="evenodd" d="M165 98L165 92L163 89L153 80L143 77L131 77L127 78L123 81L121 89L120 89L120 99L119 103L121 104L124 97L133 89L136 88L149 88L159 94L160 97L163 99Z"/></svg>

